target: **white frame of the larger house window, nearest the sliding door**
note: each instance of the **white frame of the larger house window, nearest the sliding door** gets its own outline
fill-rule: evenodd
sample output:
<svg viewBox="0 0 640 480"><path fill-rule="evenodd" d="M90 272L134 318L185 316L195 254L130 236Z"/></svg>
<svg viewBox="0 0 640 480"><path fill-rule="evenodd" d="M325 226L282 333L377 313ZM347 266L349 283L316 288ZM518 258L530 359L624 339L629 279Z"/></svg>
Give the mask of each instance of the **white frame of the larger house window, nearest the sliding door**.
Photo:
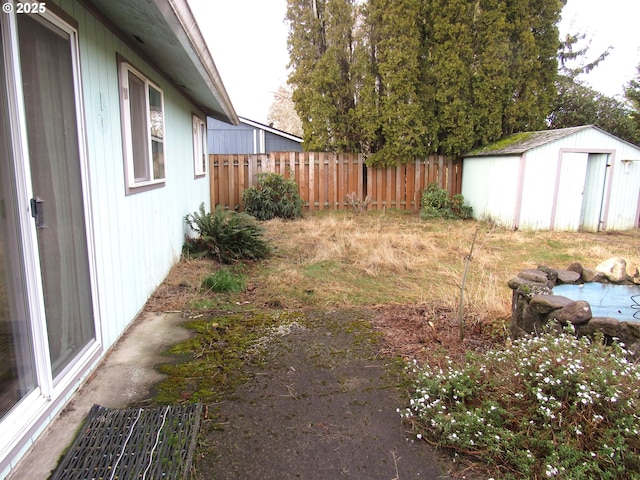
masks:
<svg viewBox="0 0 640 480"><path fill-rule="evenodd" d="M120 75L120 111L122 117L122 146L124 156L124 171L125 171L125 187L127 194L137 193L140 191L149 190L151 188L158 188L165 185L167 178L167 165L166 165L166 122L164 115L164 92L162 89L152 82L146 75L136 69L133 65L127 61L120 61L119 63L119 75ZM134 121L131 115L131 95L129 87L129 75L135 76L144 85L144 104L145 111L141 113L142 118L146 120L146 138L143 139L143 144L146 146L144 152L144 158L142 160L142 166L144 167L144 175L136 178L135 166L136 158L134 157ZM160 112L159 116L157 111L152 118L152 109L150 104L149 90L154 89L160 93ZM155 122L156 129L153 134L154 127L152 122ZM157 128L158 122L160 128ZM139 127L138 127L139 128ZM136 132L139 134L139 132ZM157 135L159 133L159 135ZM162 172L154 172L154 158L153 158L153 144L162 146Z"/></svg>

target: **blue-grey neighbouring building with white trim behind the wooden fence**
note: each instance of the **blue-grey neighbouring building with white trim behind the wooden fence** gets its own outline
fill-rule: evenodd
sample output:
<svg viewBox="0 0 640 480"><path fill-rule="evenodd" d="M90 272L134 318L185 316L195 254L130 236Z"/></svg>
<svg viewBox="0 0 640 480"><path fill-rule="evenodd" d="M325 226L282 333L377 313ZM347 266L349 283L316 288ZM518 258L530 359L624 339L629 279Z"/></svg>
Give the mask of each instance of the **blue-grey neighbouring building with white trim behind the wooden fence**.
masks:
<svg viewBox="0 0 640 480"><path fill-rule="evenodd" d="M210 154L302 151L302 138L247 118L238 118L238 125L215 118L207 119Z"/></svg>

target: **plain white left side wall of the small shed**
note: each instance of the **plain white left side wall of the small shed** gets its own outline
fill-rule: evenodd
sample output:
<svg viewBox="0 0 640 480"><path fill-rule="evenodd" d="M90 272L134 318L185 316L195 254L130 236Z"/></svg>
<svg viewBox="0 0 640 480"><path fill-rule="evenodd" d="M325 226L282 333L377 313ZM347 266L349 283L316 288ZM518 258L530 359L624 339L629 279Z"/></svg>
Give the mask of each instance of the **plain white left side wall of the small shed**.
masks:
<svg viewBox="0 0 640 480"><path fill-rule="evenodd" d="M473 217L512 228L518 186L519 157L465 158L462 195Z"/></svg>

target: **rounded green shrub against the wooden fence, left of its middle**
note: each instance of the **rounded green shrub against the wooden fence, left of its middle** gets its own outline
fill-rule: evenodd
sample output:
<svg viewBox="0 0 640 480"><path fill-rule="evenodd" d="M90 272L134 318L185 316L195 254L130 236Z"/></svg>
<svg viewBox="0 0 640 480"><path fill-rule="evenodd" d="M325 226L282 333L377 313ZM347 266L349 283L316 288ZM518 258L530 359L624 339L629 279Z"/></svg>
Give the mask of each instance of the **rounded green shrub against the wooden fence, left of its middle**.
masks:
<svg viewBox="0 0 640 480"><path fill-rule="evenodd" d="M259 173L256 182L255 187L246 189L242 194L248 214L258 220L299 218L302 215L302 199L295 180L285 179L277 173Z"/></svg>

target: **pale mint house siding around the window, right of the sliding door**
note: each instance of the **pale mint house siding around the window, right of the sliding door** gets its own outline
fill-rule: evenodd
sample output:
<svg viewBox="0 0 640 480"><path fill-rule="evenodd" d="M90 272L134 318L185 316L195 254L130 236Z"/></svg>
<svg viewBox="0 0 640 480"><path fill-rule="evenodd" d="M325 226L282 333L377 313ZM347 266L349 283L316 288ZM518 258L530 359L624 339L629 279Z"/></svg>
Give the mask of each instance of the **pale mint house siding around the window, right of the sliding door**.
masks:
<svg viewBox="0 0 640 480"><path fill-rule="evenodd" d="M120 337L179 260L183 218L204 202L207 177L195 178L195 107L92 13L58 5L78 22L99 318L105 349ZM125 195L116 54L164 92L166 184Z"/></svg>

